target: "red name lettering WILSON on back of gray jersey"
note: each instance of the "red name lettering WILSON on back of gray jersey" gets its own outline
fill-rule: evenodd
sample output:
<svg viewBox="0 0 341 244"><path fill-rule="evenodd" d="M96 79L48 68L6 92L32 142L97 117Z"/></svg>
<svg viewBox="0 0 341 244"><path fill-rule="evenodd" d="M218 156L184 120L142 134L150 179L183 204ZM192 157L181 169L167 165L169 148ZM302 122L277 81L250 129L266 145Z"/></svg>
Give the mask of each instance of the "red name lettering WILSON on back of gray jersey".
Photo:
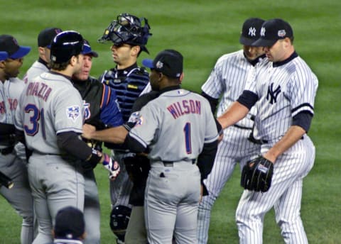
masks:
<svg viewBox="0 0 341 244"><path fill-rule="evenodd" d="M167 109L175 119L188 113L201 114L200 101L194 101L192 99L177 101L168 106Z"/></svg>

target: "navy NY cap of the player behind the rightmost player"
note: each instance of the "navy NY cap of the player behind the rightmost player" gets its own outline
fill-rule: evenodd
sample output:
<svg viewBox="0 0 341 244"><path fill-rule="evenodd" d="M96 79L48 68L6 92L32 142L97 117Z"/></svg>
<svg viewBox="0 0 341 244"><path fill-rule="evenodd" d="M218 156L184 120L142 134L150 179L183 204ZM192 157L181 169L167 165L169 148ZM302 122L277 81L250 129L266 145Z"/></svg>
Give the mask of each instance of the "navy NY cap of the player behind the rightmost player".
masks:
<svg viewBox="0 0 341 244"><path fill-rule="evenodd" d="M254 41L258 40L261 32L261 25L264 20L261 18L248 18L243 23L242 33L240 33L239 43L251 46Z"/></svg>

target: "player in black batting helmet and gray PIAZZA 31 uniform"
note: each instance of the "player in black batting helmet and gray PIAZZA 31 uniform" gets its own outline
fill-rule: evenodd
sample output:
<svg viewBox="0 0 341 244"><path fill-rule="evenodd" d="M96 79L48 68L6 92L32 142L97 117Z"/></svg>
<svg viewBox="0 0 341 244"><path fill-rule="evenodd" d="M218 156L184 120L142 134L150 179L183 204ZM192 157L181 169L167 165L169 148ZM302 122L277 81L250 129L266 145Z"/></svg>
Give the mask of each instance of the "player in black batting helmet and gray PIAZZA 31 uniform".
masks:
<svg viewBox="0 0 341 244"><path fill-rule="evenodd" d="M70 79L82 69L82 49L80 33L69 30L56 35L50 72L33 78L18 101L16 129L32 152L28 179L39 224L34 244L52 241L50 230L59 209L75 206L83 210L84 170L102 162L115 177L114 169L119 169L108 155L92 150L79 138L84 108Z"/></svg>

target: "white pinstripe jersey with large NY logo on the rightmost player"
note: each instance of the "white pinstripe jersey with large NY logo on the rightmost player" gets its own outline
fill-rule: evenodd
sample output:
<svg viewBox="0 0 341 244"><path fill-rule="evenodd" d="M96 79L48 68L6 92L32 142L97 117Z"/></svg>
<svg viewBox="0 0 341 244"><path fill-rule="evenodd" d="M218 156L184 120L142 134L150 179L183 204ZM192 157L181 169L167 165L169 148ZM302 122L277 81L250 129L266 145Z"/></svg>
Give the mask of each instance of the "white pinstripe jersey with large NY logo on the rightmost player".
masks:
<svg viewBox="0 0 341 244"><path fill-rule="evenodd" d="M273 67L264 60L251 70L246 88L259 97L256 103L255 138L277 141L301 111L314 114L318 78L301 57Z"/></svg>

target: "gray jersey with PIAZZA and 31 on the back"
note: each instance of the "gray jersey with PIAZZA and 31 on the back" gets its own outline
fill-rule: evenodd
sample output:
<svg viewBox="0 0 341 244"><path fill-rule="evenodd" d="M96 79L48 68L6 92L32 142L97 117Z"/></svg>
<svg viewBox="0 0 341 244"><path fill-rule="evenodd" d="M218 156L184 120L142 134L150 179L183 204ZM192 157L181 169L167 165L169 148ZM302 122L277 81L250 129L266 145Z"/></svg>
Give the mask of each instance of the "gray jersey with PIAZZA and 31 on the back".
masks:
<svg viewBox="0 0 341 244"><path fill-rule="evenodd" d="M62 75L45 72L26 85L16 110L16 128L25 133L28 149L60 154L57 134L82 133L80 93Z"/></svg>

